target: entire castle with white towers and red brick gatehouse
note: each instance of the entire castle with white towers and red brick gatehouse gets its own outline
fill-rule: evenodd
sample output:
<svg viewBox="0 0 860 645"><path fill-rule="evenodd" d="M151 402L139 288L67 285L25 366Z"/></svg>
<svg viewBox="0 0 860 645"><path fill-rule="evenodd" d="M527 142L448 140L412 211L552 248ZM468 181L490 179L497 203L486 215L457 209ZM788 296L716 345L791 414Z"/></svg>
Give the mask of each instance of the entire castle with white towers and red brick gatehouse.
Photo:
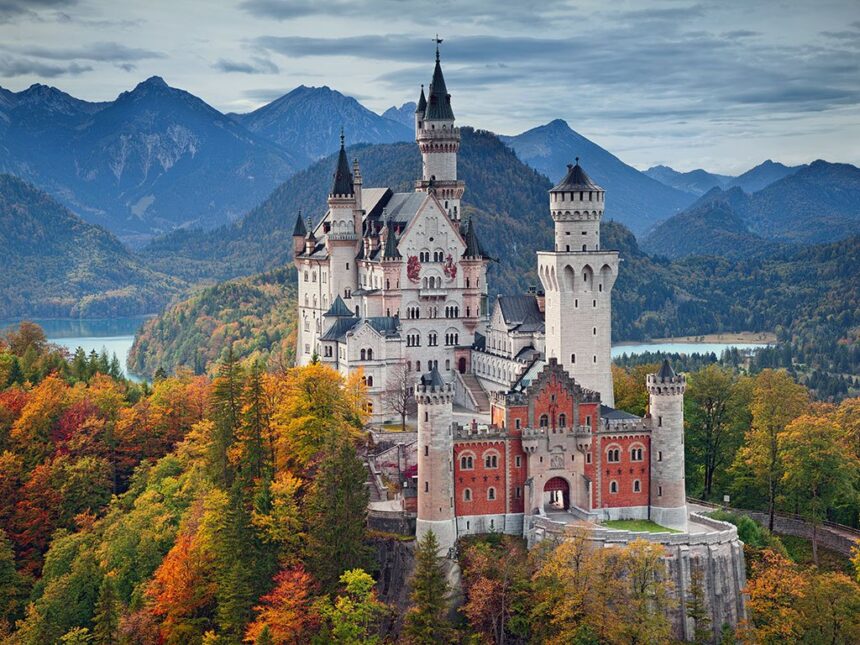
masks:
<svg viewBox="0 0 860 645"><path fill-rule="evenodd" d="M684 377L668 364L649 377L644 419L612 408L619 262L600 247L605 191L578 160L568 166L549 192L543 291L499 296L489 316L489 258L461 219L460 131L438 47L415 132L413 192L364 188L342 139L328 211L296 221L298 362L361 369L375 418L391 416L387 390L417 380L419 535L432 528L450 546L468 533L522 534L547 511L685 529ZM455 401L489 418L456 424Z"/></svg>

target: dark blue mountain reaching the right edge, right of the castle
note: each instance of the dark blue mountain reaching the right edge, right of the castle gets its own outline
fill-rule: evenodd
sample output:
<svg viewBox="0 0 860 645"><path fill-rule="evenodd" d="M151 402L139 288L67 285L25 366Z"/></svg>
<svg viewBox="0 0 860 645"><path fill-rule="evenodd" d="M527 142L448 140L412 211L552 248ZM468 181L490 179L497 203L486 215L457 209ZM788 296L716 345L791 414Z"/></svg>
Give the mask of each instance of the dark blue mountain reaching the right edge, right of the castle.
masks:
<svg viewBox="0 0 860 645"><path fill-rule="evenodd" d="M752 195L737 186L714 188L657 226L642 246L670 258L748 257L858 233L860 168L819 160Z"/></svg>

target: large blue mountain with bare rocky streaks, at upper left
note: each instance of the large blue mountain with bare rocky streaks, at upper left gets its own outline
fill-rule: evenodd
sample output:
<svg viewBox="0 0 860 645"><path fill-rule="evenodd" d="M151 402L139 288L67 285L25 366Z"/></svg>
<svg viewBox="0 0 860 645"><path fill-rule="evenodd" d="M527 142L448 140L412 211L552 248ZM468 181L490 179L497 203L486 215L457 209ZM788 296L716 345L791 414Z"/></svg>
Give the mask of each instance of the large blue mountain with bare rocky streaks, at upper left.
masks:
<svg viewBox="0 0 860 645"><path fill-rule="evenodd" d="M283 148L159 77L110 103L33 86L4 93L3 104L0 171L126 241L230 221L297 166Z"/></svg>

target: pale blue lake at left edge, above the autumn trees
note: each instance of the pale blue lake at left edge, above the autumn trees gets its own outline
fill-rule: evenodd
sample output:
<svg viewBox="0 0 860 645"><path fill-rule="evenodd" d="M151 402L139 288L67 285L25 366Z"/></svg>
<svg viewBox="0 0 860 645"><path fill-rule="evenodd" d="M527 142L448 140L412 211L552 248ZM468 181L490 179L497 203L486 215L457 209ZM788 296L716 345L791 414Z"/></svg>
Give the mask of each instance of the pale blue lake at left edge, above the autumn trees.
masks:
<svg viewBox="0 0 860 645"><path fill-rule="evenodd" d="M101 353L103 349L107 351L108 356L116 354L123 373L134 381L140 378L128 371L126 359L134 342L134 334L146 319L146 316L96 320L28 318L45 330L49 342L65 347L69 353L74 353L78 347L83 347L88 354L92 350ZM18 320L0 320L0 329L6 329L18 322Z"/></svg>

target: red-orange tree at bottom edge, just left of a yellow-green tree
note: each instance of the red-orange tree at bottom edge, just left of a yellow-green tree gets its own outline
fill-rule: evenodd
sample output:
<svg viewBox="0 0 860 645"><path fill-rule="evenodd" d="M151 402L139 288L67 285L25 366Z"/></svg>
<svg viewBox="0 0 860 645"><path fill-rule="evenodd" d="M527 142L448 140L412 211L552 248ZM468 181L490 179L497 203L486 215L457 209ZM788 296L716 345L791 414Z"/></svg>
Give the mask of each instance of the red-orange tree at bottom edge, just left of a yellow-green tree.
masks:
<svg viewBox="0 0 860 645"><path fill-rule="evenodd" d="M256 618L245 632L245 642L268 639L273 645L306 643L319 627L321 616L314 603L316 581L299 564L280 571L275 587L254 607Z"/></svg>

